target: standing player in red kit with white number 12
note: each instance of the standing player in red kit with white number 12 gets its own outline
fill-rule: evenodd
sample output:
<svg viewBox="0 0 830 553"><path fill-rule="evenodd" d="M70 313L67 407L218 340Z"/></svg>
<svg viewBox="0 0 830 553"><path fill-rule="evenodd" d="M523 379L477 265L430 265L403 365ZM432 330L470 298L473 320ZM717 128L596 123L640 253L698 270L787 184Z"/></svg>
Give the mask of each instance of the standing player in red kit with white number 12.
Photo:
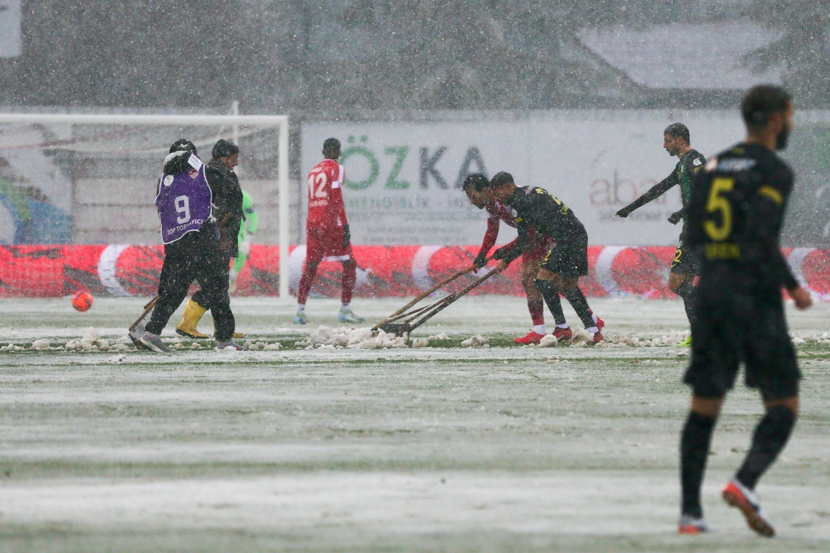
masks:
<svg viewBox="0 0 830 553"><path fill-rule="evenodd" d="M337 163L340 157L340 141L326 138L323 143L323 161L309 172L309 213L305 219L305 269L297 292L297 314L294 323L309 323L305 316L311 284L317 274L317 266L324 258L343 264L340 289L340 323L363 323L363 318L352 312L350 303L357 276L357 264L352 253L349 221L343 203L345 168Z"/></svg>

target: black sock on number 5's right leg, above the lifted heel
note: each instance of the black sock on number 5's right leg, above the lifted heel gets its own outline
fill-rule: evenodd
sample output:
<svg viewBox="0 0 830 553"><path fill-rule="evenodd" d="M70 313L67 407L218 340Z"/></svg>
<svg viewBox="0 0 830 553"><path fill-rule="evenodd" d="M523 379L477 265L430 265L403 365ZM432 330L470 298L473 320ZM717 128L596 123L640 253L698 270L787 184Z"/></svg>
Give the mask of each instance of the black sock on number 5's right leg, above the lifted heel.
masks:
<svg viewBox="0 0 830 553"><path fill-rule="evenodd" d="M750 490L764 474L784 446L795 425L795 414L789 407L776 405L764 415L752 436L752 447L746 454L743 466L735 475Z"/></svg>

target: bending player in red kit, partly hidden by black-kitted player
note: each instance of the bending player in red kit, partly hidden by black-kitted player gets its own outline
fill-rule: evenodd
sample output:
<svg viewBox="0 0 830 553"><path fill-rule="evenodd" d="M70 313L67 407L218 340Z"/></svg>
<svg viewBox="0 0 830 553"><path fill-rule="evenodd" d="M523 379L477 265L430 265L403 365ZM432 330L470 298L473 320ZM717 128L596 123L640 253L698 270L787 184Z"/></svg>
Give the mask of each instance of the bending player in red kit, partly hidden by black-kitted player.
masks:
<svg viewBox="0 0 830 553"><path fill-rule="evenodd" d="M470 203L479 209L487 211L487 231L484 235L484 241L481 243L481 248L478 250L478 255L473 260L476 269L481 269L486 264L487 254L493 245L496 244L496 239L499 237L501 221L504 221L508 226L516 227L515 219L511 213L512 208L498 201L491 201L490 198L482 193L489 183L490 181L487 177L481 173L475 173L466 177L466 180L461 185ZM525 250L525 253L522 254L521 258L521 284L525 287L527 308L530 311L533 328L530 329L527 336L514 338L513 342L517 344L538 344L544 335L547 334L547 330L544 327L544 298L542 298L542 293L536 286L535 279L536 274L539 273L544 255L554 246L554 240L540 235L532 228L530 229L530 236L530 245ZM513 243L515 243L515 240L511 242L511 244ZM556 327L554 336L563 339L570 332L568 325L564 324L561 328Z"/></svg>

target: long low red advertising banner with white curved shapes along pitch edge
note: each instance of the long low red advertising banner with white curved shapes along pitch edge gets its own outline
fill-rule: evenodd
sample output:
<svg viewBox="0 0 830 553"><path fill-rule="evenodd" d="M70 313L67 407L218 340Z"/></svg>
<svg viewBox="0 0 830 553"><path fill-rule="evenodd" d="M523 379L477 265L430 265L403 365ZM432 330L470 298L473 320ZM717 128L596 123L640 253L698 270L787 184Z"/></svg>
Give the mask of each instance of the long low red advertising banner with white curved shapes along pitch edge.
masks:
<svg viewBox="0 0 830 553"><path fill-rule="evenodd" d="M252 245L237 279L237 295L274 296L279 288L279 247ZM469 267L478 246L359 245L355 294L360 297L412 296ZM830 250L786 249L796 277L818 298L830 301ZM580 280L592 296L674 297L668 289L673 247L591 246L588 276ZM77 290L99 296L152 296L164 260L161 245L20 245L0 246L0 297L60 297ZM289 278L292 293L305 264L305 245L292 246ZM486 269L482 269L486 270ZM475 279L468 274L458 287ZM340 264L320 264L312 293L339 297ZM522 295L521 261L487 280L472 293Z"/></svg>

